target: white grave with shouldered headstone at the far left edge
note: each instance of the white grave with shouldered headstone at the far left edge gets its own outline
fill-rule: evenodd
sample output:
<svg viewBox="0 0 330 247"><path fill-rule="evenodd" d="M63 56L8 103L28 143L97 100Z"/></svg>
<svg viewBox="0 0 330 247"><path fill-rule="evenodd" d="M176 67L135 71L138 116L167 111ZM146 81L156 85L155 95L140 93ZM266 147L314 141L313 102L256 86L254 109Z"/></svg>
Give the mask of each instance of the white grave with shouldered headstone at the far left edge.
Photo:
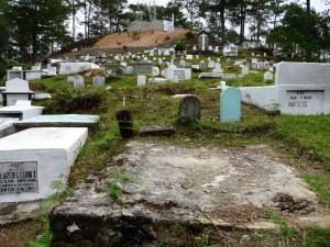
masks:
<svg viewBox="0 0 330 247"><path fill-rule="evenodd" d="M2 91L3 106L14 105L19 100L30 101L34 92L30 91L29 81L19 78L6 81Z"/></svg>

